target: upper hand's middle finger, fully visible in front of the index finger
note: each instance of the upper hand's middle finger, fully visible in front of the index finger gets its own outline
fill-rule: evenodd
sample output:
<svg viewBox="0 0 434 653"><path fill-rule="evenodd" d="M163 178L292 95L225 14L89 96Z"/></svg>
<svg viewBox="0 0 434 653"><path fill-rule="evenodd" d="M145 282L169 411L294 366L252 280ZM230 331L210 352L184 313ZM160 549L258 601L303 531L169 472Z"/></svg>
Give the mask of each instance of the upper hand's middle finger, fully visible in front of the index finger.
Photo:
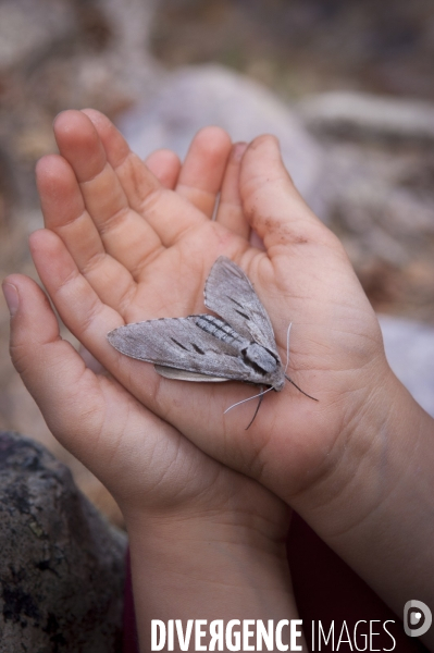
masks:
<svg viewBox="0 0 434 653"><path fill-rule="evenodd" d="M55 119L54 135L104 249L137 276L144 259L161 249L161 241L129 207L91 121L80 111L65 111ZM152 183L156 190L160 188L153 175Z"/></svg>

